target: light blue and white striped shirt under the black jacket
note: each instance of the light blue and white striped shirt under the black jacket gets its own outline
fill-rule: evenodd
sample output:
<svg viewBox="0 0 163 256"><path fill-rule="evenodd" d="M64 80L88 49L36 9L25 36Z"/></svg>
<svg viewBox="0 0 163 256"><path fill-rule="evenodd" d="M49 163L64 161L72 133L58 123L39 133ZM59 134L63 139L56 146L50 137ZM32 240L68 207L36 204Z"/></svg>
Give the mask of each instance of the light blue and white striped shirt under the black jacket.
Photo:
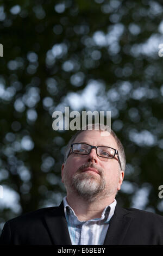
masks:
<svg viewBox="0 0 163 256"><path fill-rule="evenodd" d="M72 245L103 245L116 204L114 199L114 202L105 207L101 218L79 221L64 197L64 211Z"/></svg>

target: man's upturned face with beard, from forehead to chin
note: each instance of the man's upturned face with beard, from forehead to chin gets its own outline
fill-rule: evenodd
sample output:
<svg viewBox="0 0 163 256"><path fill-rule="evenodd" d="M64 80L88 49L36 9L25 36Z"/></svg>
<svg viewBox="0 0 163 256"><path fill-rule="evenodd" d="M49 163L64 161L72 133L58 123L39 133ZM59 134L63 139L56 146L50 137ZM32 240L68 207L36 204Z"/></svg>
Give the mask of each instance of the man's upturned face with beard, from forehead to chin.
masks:
<svg viewBox="0 0 163 256"><path fill-rule="evenodd" d="M118 149L114 137L108 132L107 136L102 137L102 132L107 131L83 131L73 143ZM106 159L97 156L96 149L92 149L89 155L71 153L62 164L62 182L67 195L70 192L76 193L88 202L116 195L121 188L123 176L117 155L113 159Z"/></svg>

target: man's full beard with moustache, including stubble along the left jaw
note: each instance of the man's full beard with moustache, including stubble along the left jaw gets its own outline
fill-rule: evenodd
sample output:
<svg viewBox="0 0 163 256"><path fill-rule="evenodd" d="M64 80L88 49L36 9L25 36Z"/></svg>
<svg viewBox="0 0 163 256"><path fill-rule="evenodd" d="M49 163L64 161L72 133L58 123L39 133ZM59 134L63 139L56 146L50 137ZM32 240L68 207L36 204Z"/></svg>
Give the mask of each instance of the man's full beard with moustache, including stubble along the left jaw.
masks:
<svg viewBox="0 0 163 256"><path fill-rule="evenodd" d="M93 173L83 172L86 167L92 167L98 170L98 175ZM103 169L98 168L96 164L87 163L80 166L77 172L70 178L67 172L64 174L65 186L72 193L77 193L78 197L86 202L95 202L97 199L103 199L109 196L106 191L106 182L103 175Z"/></svg>

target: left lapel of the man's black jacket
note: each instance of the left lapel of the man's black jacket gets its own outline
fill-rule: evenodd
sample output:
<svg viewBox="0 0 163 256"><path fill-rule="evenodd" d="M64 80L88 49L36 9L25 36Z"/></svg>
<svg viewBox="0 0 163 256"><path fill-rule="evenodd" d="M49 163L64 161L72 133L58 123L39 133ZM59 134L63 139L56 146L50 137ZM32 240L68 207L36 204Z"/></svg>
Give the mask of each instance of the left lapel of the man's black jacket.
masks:
<svg viewBox="0 0 163 256"><path fill-rule="evenodd" d="M45 222L53 245L71 245L63 202L45 215Z"/></svg>

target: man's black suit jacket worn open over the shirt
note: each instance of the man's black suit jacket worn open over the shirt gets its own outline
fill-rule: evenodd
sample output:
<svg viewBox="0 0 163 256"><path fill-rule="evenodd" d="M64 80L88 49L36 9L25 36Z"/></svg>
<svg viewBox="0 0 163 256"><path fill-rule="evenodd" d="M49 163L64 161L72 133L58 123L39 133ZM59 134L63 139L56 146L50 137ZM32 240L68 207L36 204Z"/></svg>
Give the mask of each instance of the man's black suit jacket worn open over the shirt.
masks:
<svg viewBox="0 0 163 256"><path fill-rule="evenodd" d="M5 223L0 245L71 245L63 202ZM116 205L104 245L163 245L163 217Z"/></svg>

